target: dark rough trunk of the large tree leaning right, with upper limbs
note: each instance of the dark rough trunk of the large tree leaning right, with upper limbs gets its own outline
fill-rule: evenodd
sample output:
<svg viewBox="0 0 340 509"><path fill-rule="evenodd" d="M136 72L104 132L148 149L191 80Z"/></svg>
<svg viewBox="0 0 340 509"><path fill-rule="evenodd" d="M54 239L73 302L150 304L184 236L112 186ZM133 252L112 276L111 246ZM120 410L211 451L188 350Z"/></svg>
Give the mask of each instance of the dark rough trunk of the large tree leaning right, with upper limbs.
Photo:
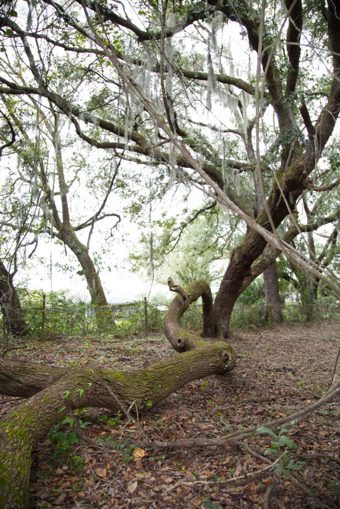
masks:
<svg viewBox="0 0 340 509"><path fill-rule="evenodd" d="M227 18L241 22L247 30L250 46L255 51L258 50L258 20L255 22L254 19L249 18L247 9L243 5L241 6L242 15L239 18L233 19L235 16L234 9L231 9L228 2L209 0L208 3L216 5L216 8L223 12ZM333 133L340 112L340 38L338 37L340 29L338 10L340 4L336 0L336 2L327 2L327 5L327 31L333 58L333 77L327 105L321 109L320 116L315 126L313 126L314 137L312 141L305 149L301 148L300 153L294 156L295 160L290 162L287 160L287 154L292 146L286 145L285 150L281 154L280 168L276 173L285 200L291 210L294 209L296 200L308 186L308 176L321 157L323 149ZM290 34L289 37L292 36ZM267 89L271 97L272 106L276 112L281 134L283 134L291 126L290 118L293 115L293 111L287 109L286 100L281 95L280 87L282 83L275 74L275 66L272 65L273 61L269 61L268 48L269 45L266 50L263 50L262 65L265 69L268 64L266 75ZM296 70L297 66L295 64L294 72ZM291 92L292 87L294 88L294 83L292 83L290 81L290 90L287 90L287 92ZM281 196L281 190L274 180L267 200L268 209L275 228L289 214L289 210ZM267 230L272 231L271 222L264 208L259 212L256 221ZM221 281L214 303L215 325L222 329L225 337L230 336L229 323L234 303L241 291L244 290L244 281L252 274L253 262L260 256L265 246L266 241L264 238L260 238L255 232L247 232L242 243L231 254L229 265Z"/></svg>

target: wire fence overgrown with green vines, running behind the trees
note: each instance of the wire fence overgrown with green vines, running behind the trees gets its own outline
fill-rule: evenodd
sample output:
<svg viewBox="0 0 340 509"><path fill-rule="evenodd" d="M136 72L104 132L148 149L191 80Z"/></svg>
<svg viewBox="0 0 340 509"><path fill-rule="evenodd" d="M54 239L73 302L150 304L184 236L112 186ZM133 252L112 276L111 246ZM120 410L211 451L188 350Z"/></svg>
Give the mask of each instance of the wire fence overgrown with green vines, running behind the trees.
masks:
<svg viewBox="0 0 340 509"><path fill-rule="evenodd" d="M164 316L169 303L147 302L146 299L106 307L85 302L73 303L66 299L53 299L40 295L22 306L24 319L30 335L41 341L60 336L90 336L100 334L143 334L164 331ZM340 319L339 304L329 298L310 304L287 302L282 305L282 315L287 322L313 322ZM231 329L241 327L271 325L271 315L264 302L233 308ZM186 330L198 331L202 327L202 306L192 305L180 319ZM3 318L0 319L3 338L8 337Z"/></svg>

